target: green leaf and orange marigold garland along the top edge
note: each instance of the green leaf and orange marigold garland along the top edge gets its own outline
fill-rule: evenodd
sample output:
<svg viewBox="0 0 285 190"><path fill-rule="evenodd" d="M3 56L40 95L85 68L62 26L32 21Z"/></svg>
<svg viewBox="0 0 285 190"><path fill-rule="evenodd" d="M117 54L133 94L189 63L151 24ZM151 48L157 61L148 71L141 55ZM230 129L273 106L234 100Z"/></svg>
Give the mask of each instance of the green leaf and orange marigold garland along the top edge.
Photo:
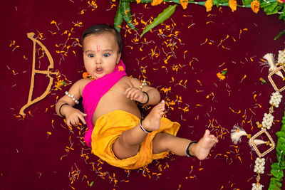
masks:
<svg viewBox="0 0 285 190"><path fill-rule="evenodd" d="M267 15L271 14L279 14L279 19L283 19L285 21L285 4L281 0L242 0L242 5L237 4L237 0L207 0L207 1L187 1L187 0L120 0L120 4L118 6L117 13L115 15L114 19L114 26L115 28L120 32L120 28L122 28L123 20L128 24L129 28L132 28L134 30L137 30L135 28L135 24L132 21L132 14L130 13L130 2L136 2L137 4L145 3L145 4L151 4L152 6L157 6L165 2L167 3L174 3L174 4L180 4L182 6L182 9L187 9L188 4L198 4L201 6L205 6L206 11L209 12L212 10L213 6L229 6L229 8L232 10L232 12L237 10L237 7L244 7L244 8L251 8L254 13L258 13L259 9L264 9L264 12ZM173 12L172 12L173 14ZM160 14L157 16L156 19L162 20L161 22L157 23L150 23L149 26L152 26L151 28L157 26L158 24L162 23L166 19L168 19L172 14ZM145 33L147 31L143 31L142 33ZM281 31L276 38L279 38L285 33L284 31ZM142 35L141 35L142 36Z"/></svg>

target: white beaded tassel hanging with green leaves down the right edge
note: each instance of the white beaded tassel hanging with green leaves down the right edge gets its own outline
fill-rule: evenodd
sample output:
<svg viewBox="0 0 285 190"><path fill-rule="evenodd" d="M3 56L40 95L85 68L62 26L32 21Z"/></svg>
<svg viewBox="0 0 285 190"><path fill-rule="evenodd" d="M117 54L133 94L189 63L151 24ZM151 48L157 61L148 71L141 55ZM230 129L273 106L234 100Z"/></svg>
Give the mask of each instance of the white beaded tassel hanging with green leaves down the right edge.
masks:
<svg viewBox="0 0 285 190"><path fill-rule="evenodd" d="M279 51L279 60L281 60L281 57L284 55L284 52L285 50ZM231 133L232 142L234 144L237 144L237 142L240 142L242 136L247 136L247 138L249 139L250 147L252 147L252 149L258 155L257 159L255 160L255 166L254 166L254 172L257 173L257 178L256 178L257 182L252 184L252 190L261 190L264 187L262 184L259 183L261 179L261 174L264 174L264 165L265 165L265 159L261 157L264 157L266 154L271 152L275 147L274 141L271 138L269 132L267 132L267 130L270 130L272 126L272 123L274 121L274 116L272 115L272 113L274 112L274 107L279 107L279 104L282 98L282 95L280 93L282 90L285 89L285 88L281 88L281 89L277 88L276 84L271 78L271 75L276 74L284 79L282 73L279 73L279 72L281 69L284 70L283 65L285 62L274 63L274 58L271 53L267 53L264 56L264 58L267 60L267 63L264 63L264 64L269 66L269 76L268 76L269 81L271 85L274 87L274 90L276 90L276 92L271 94L271 97L269 100L269 104L271 105L271 107L269 107L269 112L264 113L264 117L263 117L261 124L257 122L257 127L260 129L260 131L257 132L257 134L254 134L254 136L252 136L252 134L247 134L247 132L245 132L243 129L237 126L234 126L234 129L232 130L232 133ZM270 185L271 189L276 189L277 187L281 187L280 181L281 181L281 178L283 177L282 169L284 169L283 149L285 150L285 138L284 138L285 137L285 117L283 117L282 123L283 123L282 129L284 130L284 132L279 132L277 134L278 136L281 136L281 134L283 136L282 139L280 138L278 149L276 149L277 159L279 160L279 163L274 163L271 165L271 168L272 168L271 173L275 176L275 178L271 179L271 183L272 183ZM268 140L264 141L262 139L258 139L258 137L261 137L261 134L266 134L266 137L268 138ZM260 144L266 144L266 146L268 146L268 149L266 149L266 151L264 152L260 152L258 148Z"/></svg>

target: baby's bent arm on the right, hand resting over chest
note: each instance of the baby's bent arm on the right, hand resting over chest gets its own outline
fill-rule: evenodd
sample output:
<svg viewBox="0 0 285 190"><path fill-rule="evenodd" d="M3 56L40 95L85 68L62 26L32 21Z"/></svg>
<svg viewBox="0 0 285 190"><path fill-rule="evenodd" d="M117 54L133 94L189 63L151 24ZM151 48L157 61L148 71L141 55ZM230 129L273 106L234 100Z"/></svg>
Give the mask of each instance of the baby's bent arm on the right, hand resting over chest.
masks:
<svg viewBox="0 0 285 190"><path fill-rule="evenodd" d="M147 95L149 97L149 100L147 102L148 105L157 105L158 102L160 102L160 93L150 86L143 86L142 90L140 90L140 80L137 78L130 78L130 82L133 84L133 88L128 88L125 90L125 95L130 98L130 100L138 101L142 104L145 104L147 102ZM145 95L145 92L147 95Z"/></svg>

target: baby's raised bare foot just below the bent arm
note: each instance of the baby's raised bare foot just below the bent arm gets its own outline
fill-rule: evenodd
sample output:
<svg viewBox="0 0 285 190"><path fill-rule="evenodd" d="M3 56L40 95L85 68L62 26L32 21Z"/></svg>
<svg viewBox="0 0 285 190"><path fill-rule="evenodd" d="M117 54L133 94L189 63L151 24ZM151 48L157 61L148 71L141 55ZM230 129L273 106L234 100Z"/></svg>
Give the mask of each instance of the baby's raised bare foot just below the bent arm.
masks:
<svg viewBox="0 0 285 190"><path fill-rule="evenodd" d="M160 119L165 111L165 100L155 105L150 113L142 121L142 127L148 131L155 131L160 128Z"/></svg>

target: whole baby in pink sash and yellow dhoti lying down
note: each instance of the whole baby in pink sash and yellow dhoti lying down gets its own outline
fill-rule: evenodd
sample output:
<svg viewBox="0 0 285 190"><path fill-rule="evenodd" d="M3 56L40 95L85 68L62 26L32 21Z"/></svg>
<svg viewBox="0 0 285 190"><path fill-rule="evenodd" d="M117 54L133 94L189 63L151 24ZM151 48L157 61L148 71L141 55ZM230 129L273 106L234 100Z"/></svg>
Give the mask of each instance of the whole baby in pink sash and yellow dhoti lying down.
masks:
<svg viewBox="0 0 285 190"><path fill-rule="evenodd" d="M199 142L176 137L180 125L162 117L160 93L128 77L121 56L121 38L113 26L95 25L83 33L83 60L88 78L78 80L56 103L68 126L83 122L85 141L100 159L115 167L138 169L173 152L205 159L218 142L209 130ZM83 97L84 112L73 107ZM155 105L142 119L137 102Z"/></svg>

